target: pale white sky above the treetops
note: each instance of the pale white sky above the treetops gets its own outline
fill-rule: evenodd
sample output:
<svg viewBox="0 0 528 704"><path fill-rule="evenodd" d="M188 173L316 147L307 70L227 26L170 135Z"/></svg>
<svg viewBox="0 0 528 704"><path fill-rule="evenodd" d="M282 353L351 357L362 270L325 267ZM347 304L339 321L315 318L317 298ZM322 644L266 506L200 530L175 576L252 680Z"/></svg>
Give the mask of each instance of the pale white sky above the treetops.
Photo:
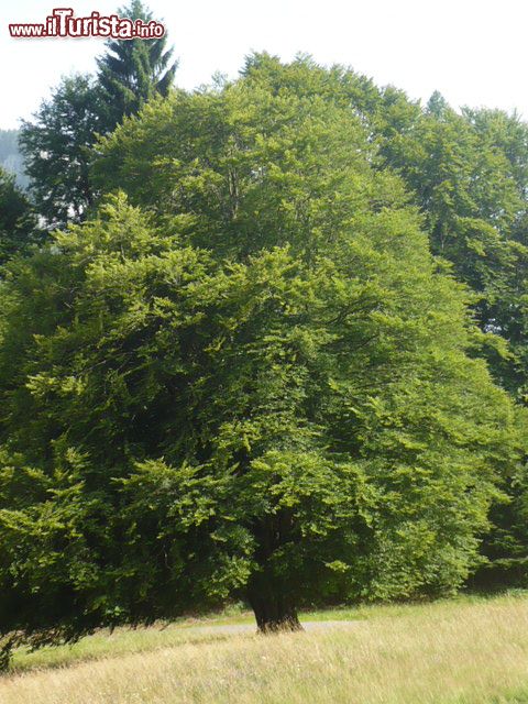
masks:
<svg viewBox="0 0 528 704"><path fill-rule="evenodd" d="M0 128L14 128L62 75L92 70L98 38L15 40L10 22L40 22L54 7L111 14L122 0L2 0ZM176 82L235 76L251 51L306 52L394 84L411 98L433 90L454 106L517 109L528 119L526 0L146 0L180 64Z"/></svg>

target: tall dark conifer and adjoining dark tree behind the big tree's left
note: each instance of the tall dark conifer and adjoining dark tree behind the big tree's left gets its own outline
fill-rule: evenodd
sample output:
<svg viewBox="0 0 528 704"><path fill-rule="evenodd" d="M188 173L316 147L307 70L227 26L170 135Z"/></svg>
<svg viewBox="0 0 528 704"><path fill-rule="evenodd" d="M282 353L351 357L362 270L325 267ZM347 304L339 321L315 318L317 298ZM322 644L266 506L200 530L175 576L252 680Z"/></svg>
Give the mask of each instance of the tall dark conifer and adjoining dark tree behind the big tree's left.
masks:
<svg viewBox="0 0 528 704"><path fill-rule="evenodd" d="M120 16L150 20L140 0ZM86 218L97 196L89 166L98 134L111 132L124 116L135 114L155 95L166 96L177 62L167 38L107 43L97 76L64 78L33 121L23 121L20 145L31 193L47 227Z"/></svg>

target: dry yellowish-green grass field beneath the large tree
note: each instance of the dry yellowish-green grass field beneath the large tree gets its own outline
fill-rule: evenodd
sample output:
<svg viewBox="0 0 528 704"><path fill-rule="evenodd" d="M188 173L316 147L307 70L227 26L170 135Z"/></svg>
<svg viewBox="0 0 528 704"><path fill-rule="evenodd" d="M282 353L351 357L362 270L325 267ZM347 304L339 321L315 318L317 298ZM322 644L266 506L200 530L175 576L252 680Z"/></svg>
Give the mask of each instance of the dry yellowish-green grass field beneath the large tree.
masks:
<svg viewBox="0 0 528 704"><path fill-rule="evenodd" d="M344 623L263 637L235 632L251 615L228 613L19 652L0 702L528 704L526 594L304 619Z"/></svg>

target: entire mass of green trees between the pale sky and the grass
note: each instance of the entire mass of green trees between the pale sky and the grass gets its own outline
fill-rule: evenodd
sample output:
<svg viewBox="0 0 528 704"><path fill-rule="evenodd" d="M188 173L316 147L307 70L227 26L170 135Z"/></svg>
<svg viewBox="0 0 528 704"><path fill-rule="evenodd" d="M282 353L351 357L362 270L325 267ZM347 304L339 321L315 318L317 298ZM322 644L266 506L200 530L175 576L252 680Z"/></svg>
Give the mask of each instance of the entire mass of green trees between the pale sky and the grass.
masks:
<svg viewBox="0 0 528 704"><path fill-rule="evenodd" d="M526 586L528 125L307 56L176 68L110 43L0 178L4 662Z"/></svg>

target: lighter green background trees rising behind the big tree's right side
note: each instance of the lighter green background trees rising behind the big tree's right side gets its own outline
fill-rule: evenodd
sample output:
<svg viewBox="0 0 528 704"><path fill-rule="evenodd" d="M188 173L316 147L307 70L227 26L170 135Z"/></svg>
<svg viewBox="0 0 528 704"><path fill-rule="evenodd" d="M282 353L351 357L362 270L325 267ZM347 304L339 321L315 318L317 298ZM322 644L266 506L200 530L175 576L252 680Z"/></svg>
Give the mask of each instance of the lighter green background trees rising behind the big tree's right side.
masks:
<svg viewBox="0 0 528 704"><path fill-rule="evenodd" d="M431 99L432 100L432 99ZM383 132L386 128L383 128ZM455 113L439 97L409 114L383 144L383 165L405 178L426 217L431 250L475 292L482 353L497 381L522 399L526 385L525 128L501 112ZM508 352L496 344L501 336Z"/></svg>

